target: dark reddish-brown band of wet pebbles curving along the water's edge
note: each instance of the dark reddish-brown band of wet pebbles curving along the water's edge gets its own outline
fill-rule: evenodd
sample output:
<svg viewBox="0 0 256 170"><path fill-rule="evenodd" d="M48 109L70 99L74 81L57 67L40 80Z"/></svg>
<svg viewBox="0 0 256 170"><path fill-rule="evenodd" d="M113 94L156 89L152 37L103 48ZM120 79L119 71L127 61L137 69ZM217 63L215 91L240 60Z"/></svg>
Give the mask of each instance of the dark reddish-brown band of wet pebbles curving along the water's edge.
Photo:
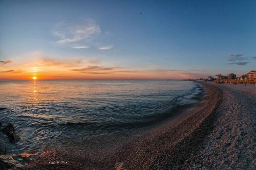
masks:
<svg viewBox="0 0 256 170"><path fill-rule="evenodd" d="M162 122L159 125L154 125L156 128L145 133L138 135L132 134L133 136L128 137L128 140L127 138L120 139L121 142L118 141L114 149L105 151L104 148L101 148L104 150L103 154L105 156L98 158L97 155L99 153L102 154L102 151L93 153L95 151L87 152L86 149L81 149L78 153L72 153L70 151L48 152L39 156L37 160L32 161L27 167L32 169L45 167L59 169L114 169L116 163L117 166L120 164L120 166L125 166L129 169L154 169L156 168L155 165L160 167L160 162L164 162L161 157L167 156L167 151L173 153L180 141L184 141L197 129L200 129L200 131L206 129L201 126L205 121L209 121L206 118L211 115L218 105L220 92L216 87L211 85L203 84L203 86L205 91L201 94L201 102L197 103L196 107L188 110L183 109L183 113L176 115L175 119L171 122L169 122L170 118L168 118L165 123ZM182 147L184 148L184 146ZM86 152L87 154L85 154ZM180 153L179 150L178 153ZM172 157L172 155L168 155L165 160L169 156ZM49 164L49 159L52 162L67 161L68 163Z"/></svg>

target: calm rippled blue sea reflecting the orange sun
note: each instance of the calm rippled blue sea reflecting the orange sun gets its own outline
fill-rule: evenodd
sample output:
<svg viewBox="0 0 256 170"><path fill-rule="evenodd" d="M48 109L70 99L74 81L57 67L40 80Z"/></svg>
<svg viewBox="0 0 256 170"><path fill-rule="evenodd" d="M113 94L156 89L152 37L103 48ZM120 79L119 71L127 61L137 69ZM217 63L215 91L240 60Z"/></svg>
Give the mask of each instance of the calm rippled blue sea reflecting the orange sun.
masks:
<svg viewBox="0 0 256 170"><path fill-rule="evenodd" d="M30 152L62 138L122 132L154 124L177 105L195 103L190 81L0 81L0 119L13 123L19 142L9 152Z"/></svg>

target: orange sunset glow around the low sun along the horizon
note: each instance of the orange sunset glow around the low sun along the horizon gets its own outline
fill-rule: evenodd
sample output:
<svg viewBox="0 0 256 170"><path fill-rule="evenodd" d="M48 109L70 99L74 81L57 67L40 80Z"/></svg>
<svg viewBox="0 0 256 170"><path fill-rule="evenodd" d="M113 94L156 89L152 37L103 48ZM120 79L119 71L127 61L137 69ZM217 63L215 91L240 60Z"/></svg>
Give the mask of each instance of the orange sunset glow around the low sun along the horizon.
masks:
<svg viewBox="0 0 256 170"><path fill-rule="evenodd" d="M43 52L32 52L22 55L24 58L11 58L6 64L0 65L1 80L32 79L187 79L199 78L204 73L200 70L159 69L120 66L102 60L81 57L63 58Z"/></svg>

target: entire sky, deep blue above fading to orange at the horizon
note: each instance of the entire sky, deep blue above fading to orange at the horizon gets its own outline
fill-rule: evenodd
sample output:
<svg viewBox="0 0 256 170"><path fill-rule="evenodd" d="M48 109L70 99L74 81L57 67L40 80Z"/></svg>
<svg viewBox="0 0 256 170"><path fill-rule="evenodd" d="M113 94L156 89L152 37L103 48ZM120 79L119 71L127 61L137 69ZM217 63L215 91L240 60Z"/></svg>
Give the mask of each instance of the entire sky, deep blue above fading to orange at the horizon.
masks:
<svg viewBox="0 0 256 170"><path fill-rule="evenodd" d="M254 0L0 0L0 80L240 76L255 16Z"/></svg>

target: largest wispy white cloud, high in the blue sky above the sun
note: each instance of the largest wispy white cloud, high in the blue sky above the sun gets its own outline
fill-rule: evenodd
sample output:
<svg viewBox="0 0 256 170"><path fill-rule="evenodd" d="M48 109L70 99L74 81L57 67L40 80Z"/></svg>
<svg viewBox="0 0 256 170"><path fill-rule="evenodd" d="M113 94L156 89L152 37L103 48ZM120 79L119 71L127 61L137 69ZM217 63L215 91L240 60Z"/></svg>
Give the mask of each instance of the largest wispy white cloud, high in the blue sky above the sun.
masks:
<svg viewBox="0 0 256 170"><path fill-rule="evenodd" d="M67 24L59 23L53 31L53 35L58 38L56 41L58 44L91 40L99 33L101 33L100 27L92 19L87 20L82 25L76 26L67 26Z"/></svg>

